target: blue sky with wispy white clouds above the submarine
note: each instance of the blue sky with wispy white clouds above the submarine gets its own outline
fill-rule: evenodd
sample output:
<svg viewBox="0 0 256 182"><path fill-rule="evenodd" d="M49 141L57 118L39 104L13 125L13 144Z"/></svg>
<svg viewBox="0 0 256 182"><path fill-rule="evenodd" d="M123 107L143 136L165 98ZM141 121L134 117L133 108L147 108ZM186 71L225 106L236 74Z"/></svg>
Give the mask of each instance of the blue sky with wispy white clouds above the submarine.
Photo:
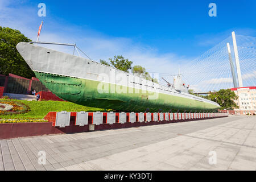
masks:
<svg viewBox="0 0 256 182"><path fill-rule="evenodd" d="M46 17L38 4L46 4ZM217 16L208 15L216 3ZM36 40L76 43L92 59L123 55L147 71L177 67L236 34L256 36L256 1L14 1L0 0L0 26ZM68 48L62 51L72 52ZM157 67L156 67L157 64Z"/></svg>

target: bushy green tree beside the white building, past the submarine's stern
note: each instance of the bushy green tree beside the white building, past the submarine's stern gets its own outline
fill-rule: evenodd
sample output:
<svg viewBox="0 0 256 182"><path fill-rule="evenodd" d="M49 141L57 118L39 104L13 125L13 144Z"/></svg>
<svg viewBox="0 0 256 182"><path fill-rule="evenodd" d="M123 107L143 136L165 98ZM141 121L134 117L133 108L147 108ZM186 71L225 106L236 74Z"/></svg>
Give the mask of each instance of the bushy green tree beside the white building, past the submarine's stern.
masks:
<svg viewBox="0 0 256 182"><path fill-rule="evenodd" d="M238 108L234 102L234 100L238 99L238 96L230 89L221 89L218 92L210 93L208 99L217 102L221 109L228 109L229 107Z"/></svg>

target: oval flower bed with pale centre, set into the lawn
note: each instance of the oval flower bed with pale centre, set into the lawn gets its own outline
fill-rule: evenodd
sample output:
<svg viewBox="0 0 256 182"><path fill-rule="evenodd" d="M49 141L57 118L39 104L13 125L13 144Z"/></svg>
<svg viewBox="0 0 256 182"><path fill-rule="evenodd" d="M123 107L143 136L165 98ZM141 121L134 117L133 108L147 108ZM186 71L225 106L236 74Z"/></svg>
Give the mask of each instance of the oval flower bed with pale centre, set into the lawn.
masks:
<svg viewBox="0 0 256 182"><path fill-rule="evenodd" d="M30 111L30 107L18 101L0 101L0 115L22 114Z"/></svg>

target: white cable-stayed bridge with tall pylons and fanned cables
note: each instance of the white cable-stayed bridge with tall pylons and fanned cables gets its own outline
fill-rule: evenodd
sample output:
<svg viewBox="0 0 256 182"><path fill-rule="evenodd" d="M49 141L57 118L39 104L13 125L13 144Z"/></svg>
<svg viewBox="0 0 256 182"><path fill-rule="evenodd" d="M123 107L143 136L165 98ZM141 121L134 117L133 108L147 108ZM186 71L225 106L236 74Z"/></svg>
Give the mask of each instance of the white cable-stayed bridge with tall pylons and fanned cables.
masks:
<svg viewBox="0 0 256 182"><path fill-rule="evenodd" d="M181 67L183 81L189 89L208 93L256 85L256 38L232 34ZM162 76L171 80L171 75L159 73L159 77ZM159 82L165 84L162 80Z"/></svg>

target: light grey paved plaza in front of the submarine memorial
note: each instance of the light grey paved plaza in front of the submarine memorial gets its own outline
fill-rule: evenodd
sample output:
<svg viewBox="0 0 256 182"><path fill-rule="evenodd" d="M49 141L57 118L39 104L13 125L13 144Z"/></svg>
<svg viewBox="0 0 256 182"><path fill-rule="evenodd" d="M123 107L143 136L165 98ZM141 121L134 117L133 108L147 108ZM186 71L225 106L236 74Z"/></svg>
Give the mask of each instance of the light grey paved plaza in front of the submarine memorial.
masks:
<svg viewBox="0 0 256 182"><path fill-rule="evenodd" d="M255 124L255 116L232 115L5 139L0 170L256 170ZM44 165L39 151L46 154Z"/></svg>

